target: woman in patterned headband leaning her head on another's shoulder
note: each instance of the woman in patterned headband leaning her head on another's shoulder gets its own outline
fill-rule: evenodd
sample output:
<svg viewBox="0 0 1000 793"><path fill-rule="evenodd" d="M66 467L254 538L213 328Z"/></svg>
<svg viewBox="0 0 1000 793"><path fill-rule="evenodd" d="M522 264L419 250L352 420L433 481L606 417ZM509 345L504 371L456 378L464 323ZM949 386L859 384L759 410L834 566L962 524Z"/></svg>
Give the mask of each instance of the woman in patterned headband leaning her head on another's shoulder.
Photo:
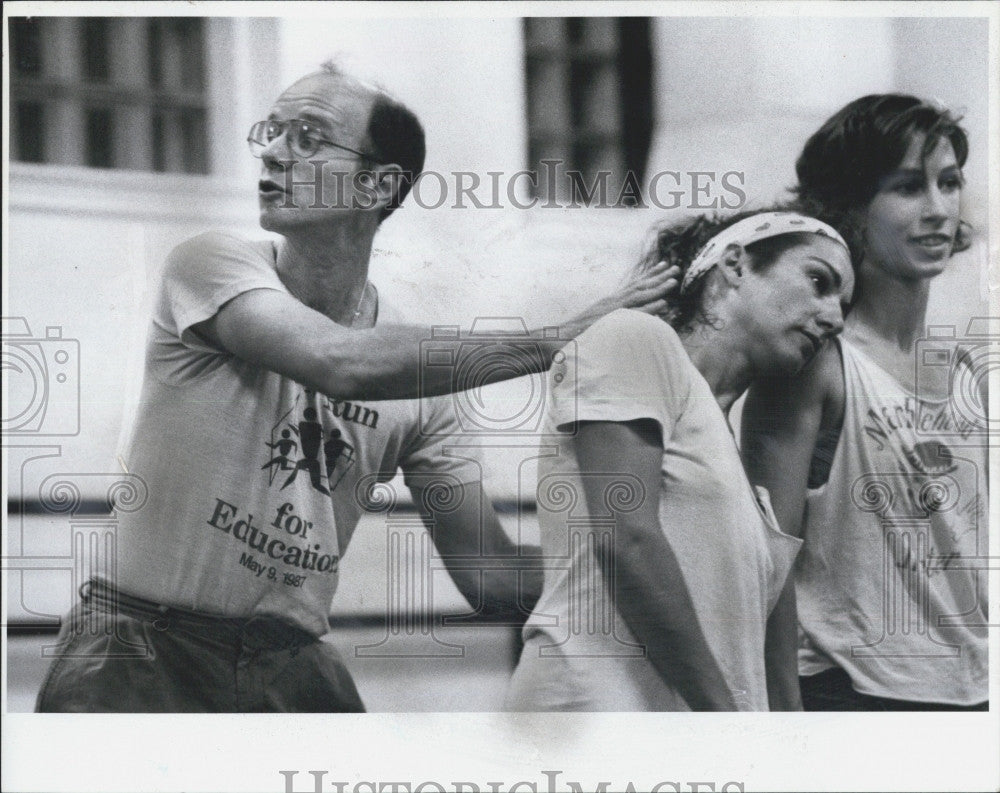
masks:
<svg viewBox="0 0 1000 793"><path fill-rule="evenodd" d="M788 705L769 691L766 624L799 542L751 487L726 416L840 331L851 257L825 223L759 212L665 227L641 267L661 261L683 271L669 323L613 312L549 372L545 584L511 710Z"/></svg>

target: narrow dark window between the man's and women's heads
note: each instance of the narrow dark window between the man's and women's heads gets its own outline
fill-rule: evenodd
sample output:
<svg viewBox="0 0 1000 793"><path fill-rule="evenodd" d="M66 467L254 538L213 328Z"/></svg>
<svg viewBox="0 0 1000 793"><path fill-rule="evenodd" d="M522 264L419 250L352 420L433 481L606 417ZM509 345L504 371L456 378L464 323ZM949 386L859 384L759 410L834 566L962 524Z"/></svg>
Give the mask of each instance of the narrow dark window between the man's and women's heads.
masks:
<svg viewBox="0 0 1000 793"><path fill-rule="evenodd" d="M653 127L650 20L525 19L524 36L537 197L579 201L574 182L589 190L605 178L610 204L637 203Z"/></svg>

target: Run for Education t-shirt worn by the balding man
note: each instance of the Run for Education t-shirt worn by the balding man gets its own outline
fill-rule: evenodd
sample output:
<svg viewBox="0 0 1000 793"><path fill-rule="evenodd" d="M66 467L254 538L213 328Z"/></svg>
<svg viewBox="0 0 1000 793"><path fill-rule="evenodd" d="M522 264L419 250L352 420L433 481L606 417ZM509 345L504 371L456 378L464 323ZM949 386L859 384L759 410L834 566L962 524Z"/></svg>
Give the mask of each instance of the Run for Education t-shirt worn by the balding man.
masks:
<svg viewBox="0 0 1000 793"><path fill-rule="evenodd" d="M148 501L120 512L116 581L158 603L280 616L320 635L358 519L384 495L372 487L399 468L418 486L479 471L442 453L458 427L448 398L333 400L192 331L253 289L287 292L271 242L213 232L167 260L123 455ZM379 321L388 314L380 305Z"/></svg>

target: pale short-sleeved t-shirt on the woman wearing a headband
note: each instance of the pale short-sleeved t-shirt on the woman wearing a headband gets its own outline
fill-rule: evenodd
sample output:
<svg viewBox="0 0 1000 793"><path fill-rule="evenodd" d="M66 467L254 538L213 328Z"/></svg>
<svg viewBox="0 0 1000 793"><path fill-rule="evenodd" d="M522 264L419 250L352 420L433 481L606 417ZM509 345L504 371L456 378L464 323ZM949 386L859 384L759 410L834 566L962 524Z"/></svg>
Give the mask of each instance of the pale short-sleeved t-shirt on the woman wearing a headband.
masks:
<svg viewBox="0 0 1000 793"><path fill-rule="evenodd" d="M689 710L645 658L609 597L590 540L606 516L588 511L572 437L577 419L654 419L662 433L663 462L659 493L645 497L659 500L655 529L676 553L737 707L767 710L766 621L800 542L777 529L766 494L756 497L708 383L669 325L616 311L564 352L566 361L549 373L546 427L563 434L558 453L539 461L545 586L524 629L507 707ZM603 478L615 509L634 508L644 497L620 474L586 475ZM610 534L603 543L610 547Z"/></svg>

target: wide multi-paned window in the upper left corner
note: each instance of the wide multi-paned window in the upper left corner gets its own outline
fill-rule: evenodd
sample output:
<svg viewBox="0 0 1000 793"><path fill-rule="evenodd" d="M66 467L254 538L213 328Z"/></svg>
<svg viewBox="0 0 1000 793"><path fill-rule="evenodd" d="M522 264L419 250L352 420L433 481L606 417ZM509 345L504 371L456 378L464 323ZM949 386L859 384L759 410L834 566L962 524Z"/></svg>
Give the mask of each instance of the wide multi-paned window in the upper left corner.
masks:
<svg viewBox="0 0 1000 793"><path fill-rule="evenodd" d="M208 173L205 20L12 18L11 158Z"/></svg>

